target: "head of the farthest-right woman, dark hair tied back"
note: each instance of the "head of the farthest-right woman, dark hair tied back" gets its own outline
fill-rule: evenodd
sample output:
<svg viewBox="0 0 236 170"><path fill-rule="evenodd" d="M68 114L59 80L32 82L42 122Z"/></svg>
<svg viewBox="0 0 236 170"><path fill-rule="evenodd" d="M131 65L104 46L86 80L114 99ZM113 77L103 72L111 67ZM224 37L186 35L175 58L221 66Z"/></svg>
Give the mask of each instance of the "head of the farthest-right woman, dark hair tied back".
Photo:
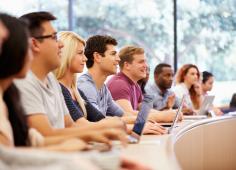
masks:
<svg viewBox="0 0 236 170"><path fill-rule="evenodd" d="M208 71L202 72L202 90L203 92L211 91L214 83L214 76Z"/></svg>

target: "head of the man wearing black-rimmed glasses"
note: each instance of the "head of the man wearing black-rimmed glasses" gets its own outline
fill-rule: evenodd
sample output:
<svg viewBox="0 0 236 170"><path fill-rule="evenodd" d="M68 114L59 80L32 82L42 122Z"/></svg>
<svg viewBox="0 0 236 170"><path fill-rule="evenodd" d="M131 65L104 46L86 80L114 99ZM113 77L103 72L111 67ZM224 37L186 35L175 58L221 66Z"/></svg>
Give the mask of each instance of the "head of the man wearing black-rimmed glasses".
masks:
<svg viewBox="0 0 236 170"><path fill-rule="evenodd" d="M60 52L63 44L57 40L57 31L51 21L56 17L49 12L32 12L21 16L29 22L32 37L32 51L37 66L52 71L60 65Z"/></svg>

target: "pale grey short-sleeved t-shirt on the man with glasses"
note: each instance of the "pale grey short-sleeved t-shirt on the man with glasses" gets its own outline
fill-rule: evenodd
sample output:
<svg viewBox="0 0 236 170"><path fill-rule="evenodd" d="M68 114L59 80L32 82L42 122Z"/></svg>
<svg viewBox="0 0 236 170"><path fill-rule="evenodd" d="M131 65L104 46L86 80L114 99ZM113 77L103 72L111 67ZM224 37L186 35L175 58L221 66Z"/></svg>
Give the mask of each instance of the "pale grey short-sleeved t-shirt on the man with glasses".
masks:
<svg viewBox="0 0 236 170"><path fill-rule="evenodd" d="M29 71L26 78L14 81L21 95L26 115L45 114L52 127L64 128L64 115L69 111L66 107L61 87L52 73L47 75L48 86L45 86Z"/></svg>

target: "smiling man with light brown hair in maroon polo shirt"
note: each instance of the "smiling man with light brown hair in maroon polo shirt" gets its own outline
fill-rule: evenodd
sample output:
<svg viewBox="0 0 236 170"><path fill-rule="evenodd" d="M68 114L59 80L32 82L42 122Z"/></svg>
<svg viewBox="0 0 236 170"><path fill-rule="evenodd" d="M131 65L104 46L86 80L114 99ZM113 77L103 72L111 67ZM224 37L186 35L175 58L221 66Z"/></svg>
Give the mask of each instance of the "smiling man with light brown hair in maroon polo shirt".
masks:
<svg viewBox="0 0 236 170"><path fill-rule="evenodd" d="M136 46L125 46L120 50L119 57L121 71L107 82L107 86L120 107L126 112L137 114L142 101L142 91L137 81L146 77L147 68L144 50ZM150 118L158 122L171 122L175 114L173 110L162 112L152 109Z"/></svg>

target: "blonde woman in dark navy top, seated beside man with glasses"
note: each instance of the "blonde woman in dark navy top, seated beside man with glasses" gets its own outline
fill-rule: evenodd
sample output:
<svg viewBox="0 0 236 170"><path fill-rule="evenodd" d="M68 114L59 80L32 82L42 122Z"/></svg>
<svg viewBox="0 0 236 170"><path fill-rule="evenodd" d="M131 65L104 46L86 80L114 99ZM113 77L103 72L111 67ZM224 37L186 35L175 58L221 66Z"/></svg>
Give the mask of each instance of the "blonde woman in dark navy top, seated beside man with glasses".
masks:
<svg viewBox="0 0 236 170"><path fill-rule="evenodd" d="M81 90L77 89L76 74L83 72L87 61L84 55L85 41L76 33L69 31L60 32L59 40L62 41L64 47L61 54L62 63L55 70L55 75L60 82L67 108L73 120L83 124L103 119L96 124L107 126L107 128L117 126L117 124L121 126L119 125L122 123L121 121L113 120L115 117L104 119L105 116L90 104Z"/></svg>

